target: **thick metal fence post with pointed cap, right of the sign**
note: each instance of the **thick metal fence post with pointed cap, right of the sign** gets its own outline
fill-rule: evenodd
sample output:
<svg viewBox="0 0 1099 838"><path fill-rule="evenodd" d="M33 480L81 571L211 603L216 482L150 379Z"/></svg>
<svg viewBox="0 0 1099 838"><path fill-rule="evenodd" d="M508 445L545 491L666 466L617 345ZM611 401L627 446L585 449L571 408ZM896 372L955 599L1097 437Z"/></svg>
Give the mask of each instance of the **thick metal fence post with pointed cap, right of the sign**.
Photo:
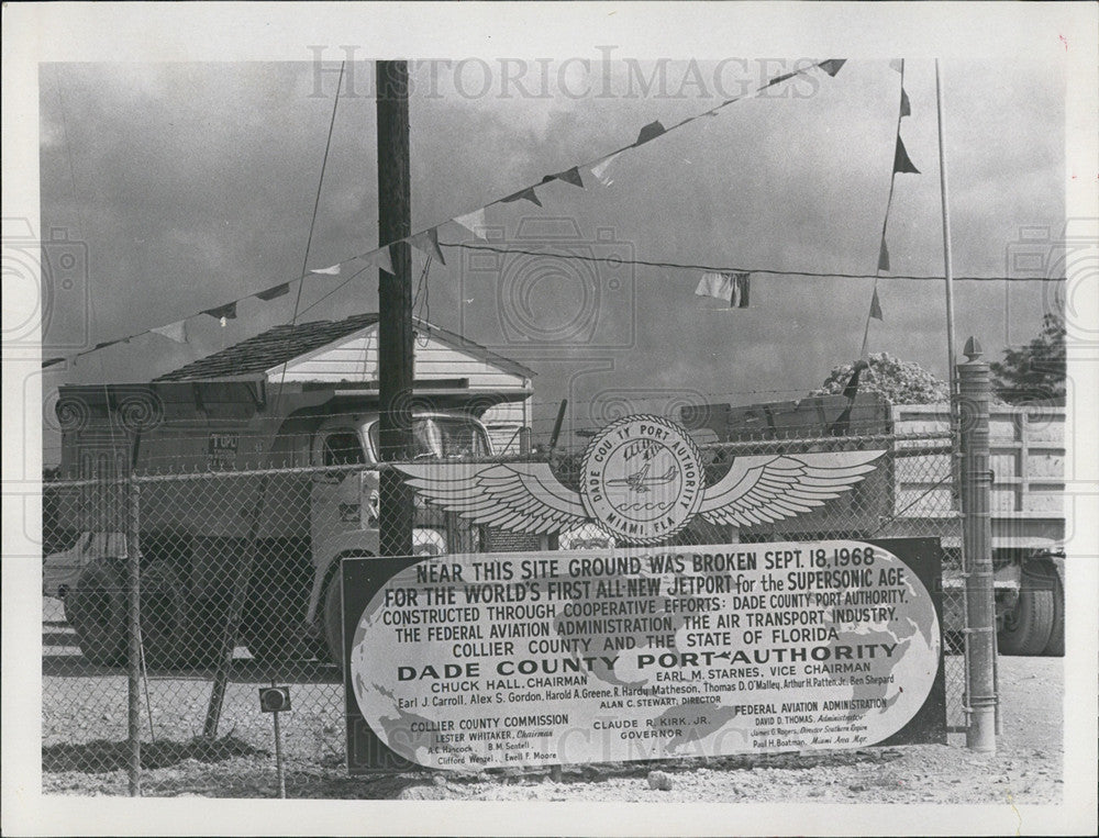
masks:
<svg viewBox="0 0 1099 838"><path fill-rule="evenodd" d="M958 395L962 435L962 527L965 560L966 614L969 625L966 692L969 724L966 746L996 752L996 604L992 591L992 524L989 512L992 477L989 471L988 404L991 383L988 362L974 339L963 350Z"/></svg>

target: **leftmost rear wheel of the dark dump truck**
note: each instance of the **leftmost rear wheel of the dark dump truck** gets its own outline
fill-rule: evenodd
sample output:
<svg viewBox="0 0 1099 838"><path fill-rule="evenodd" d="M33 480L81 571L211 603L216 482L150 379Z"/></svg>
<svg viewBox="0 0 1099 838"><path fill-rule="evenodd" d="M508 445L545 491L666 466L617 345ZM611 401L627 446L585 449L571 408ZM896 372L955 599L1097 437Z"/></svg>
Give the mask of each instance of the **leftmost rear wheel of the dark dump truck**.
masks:
<svg viewBox="0 0 1099 838"><path fill-rule="evenodd" d="M126 592L119 573L99 560L80 573L65 596L65 616L91 663L113 667L126 658Z"/></svg>

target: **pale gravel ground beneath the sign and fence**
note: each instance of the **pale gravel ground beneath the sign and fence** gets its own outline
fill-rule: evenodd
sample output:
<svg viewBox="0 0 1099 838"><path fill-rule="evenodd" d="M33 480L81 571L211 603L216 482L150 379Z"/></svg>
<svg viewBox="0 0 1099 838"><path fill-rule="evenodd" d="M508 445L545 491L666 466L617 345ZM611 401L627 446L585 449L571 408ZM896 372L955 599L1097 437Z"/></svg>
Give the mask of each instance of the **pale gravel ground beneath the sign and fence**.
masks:
<svg viewBox="0 0 1099 838"><path fill-rule="evenodd" d="M53 603L55 601L46 601ZM84 666L59 608L44 626L43 792L124 795L125 677ZM252 667L253 669L249 669ZM270 716L258 712L266 673L242 663L217 742L201 733L209 682L155 678L148 707L156 741L143 746L146 796L269 797L276 775ZM566 768L526 773L352 779L343 769L342 691L332 672L302 671L286 717L287 790L293 797L767 803L1061 803L1064 667L1059 658L1001 658L1003 734L995 757L946 746ZM1051 707L1057 708L1051 712ZM143 725L148 726L143 707ZM654 773L656 772L656 773Z"/></svg>

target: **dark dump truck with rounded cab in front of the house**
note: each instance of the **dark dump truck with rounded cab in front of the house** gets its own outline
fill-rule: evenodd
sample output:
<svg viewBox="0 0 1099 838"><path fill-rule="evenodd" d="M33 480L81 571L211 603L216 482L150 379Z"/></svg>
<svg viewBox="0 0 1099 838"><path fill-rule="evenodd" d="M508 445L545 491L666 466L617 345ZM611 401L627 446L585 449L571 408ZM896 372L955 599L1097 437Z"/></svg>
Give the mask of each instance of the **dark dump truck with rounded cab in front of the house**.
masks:
<svg viewBox="0 0 1099 838"><path fill-rule="evenodd" d="M413 407L417 459L491 456L479 416L522 396L474 395L463 381L413 393L430 405ZM254 658L340 660L340 559L381 554L376 386L74 386L56 413L60 480L45 484L44 540L60 549L44 558L43 591L64 600L86 658L126 656L125 534L136 524L151 666L212 662L234 589L246 591L236 638ZM419 504L414 524L417 555L478 548L479 530L454 516Z"/></svg>

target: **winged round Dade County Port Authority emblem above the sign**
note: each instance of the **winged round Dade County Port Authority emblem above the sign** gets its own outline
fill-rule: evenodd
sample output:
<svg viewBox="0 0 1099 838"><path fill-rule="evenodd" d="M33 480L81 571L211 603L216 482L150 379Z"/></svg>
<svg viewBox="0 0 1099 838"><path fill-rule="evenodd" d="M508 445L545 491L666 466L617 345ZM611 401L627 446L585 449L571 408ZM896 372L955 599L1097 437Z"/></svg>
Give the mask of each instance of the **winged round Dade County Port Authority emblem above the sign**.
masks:
<svg viewBox="0 0 1099 838"><path fill-rule="evenodd" d="M874 471L884 450L736 457L706 485L698 447L659 416L625 416L585 449L579 491L547 462L395 463L426 502L476 524L546 534L598 521L625 541L654 544L700 515L751 526L839 498Z"/></svg>

